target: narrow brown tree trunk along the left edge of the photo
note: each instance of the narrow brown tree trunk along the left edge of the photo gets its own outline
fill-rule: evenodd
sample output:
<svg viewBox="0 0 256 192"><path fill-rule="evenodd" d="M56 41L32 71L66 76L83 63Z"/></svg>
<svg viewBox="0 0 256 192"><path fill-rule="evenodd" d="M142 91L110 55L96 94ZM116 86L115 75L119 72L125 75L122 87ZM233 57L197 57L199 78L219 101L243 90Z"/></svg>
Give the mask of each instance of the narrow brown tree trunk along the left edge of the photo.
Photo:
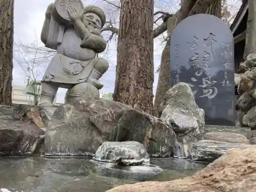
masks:
<svg viewBox="0 0 256 192"><path fill-rule="evenodd" d="M0 104L12 105L14 0L0 1Z"/></svg>

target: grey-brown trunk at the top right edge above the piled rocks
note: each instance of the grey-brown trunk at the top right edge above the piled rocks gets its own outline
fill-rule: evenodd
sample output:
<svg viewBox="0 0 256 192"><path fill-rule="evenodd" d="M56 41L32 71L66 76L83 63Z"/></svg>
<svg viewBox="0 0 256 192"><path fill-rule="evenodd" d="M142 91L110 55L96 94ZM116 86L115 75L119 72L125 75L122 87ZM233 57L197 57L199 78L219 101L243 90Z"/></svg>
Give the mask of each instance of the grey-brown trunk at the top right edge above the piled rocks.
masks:
<svg viewBox="0 0 256 192"><path fill-rule="evenodd" d="M244 59L250 53L256 53L256 2L248 0L248 18L246 28L246 43L244 50Z"/></svg>

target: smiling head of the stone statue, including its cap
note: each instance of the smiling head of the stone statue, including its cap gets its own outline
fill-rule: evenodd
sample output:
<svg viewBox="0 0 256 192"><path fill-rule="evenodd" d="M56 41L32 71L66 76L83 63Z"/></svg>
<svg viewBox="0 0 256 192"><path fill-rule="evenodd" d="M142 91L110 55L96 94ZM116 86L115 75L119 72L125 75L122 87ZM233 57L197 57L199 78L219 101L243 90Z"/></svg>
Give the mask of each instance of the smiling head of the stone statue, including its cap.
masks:
<svg viewBox="0 0 256 192"><path fill-rule="evenodd" d="M87 6L83 9L82 23L91 33L100 35L101 28L104 26L105 22L105 14L99 7Z"/></svg>

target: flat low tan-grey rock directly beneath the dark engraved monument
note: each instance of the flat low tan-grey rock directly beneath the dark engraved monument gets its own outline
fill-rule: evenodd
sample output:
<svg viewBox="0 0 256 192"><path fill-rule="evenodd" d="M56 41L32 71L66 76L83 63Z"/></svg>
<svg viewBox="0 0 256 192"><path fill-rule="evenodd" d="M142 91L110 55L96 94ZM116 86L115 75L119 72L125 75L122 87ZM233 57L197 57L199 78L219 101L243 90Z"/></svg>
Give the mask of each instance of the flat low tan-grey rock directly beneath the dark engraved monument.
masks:
<svg viewBox="0 0 256 192"><path fill-rule="evenodd" d="M247 138L238 133L210 132L204 135L204 140L223 141L229 143L248 143Z"/></svg>

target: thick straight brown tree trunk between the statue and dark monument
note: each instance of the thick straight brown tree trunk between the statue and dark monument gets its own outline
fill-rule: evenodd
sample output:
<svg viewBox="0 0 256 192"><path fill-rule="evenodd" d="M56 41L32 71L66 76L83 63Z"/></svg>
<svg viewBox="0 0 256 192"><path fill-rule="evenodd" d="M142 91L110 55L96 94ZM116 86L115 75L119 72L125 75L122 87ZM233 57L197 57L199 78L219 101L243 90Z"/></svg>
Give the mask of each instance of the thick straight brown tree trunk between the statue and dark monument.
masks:
<svg viewBox="0 0 256 192"><path fill-rule="evenodd" d="M153 113L153 0L123 0L114 100Z"/></svg>

